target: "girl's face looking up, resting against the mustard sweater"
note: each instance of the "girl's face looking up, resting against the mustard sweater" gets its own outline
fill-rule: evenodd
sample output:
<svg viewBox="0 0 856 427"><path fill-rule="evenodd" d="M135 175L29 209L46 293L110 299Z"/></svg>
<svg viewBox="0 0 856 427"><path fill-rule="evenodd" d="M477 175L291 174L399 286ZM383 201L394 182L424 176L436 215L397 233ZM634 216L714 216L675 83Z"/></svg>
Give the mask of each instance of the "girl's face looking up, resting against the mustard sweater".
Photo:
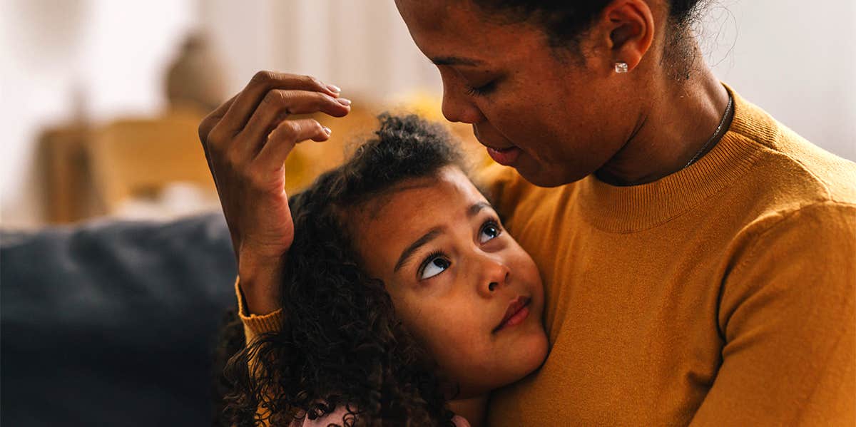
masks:
<svg viewBox="0 0 856 427"><path fill-rule="evenodd" d="M356 216L356 247L405 327L458 397L513 383L544 361L544 291L532 258L456 167L411 180Z"/></svg>

